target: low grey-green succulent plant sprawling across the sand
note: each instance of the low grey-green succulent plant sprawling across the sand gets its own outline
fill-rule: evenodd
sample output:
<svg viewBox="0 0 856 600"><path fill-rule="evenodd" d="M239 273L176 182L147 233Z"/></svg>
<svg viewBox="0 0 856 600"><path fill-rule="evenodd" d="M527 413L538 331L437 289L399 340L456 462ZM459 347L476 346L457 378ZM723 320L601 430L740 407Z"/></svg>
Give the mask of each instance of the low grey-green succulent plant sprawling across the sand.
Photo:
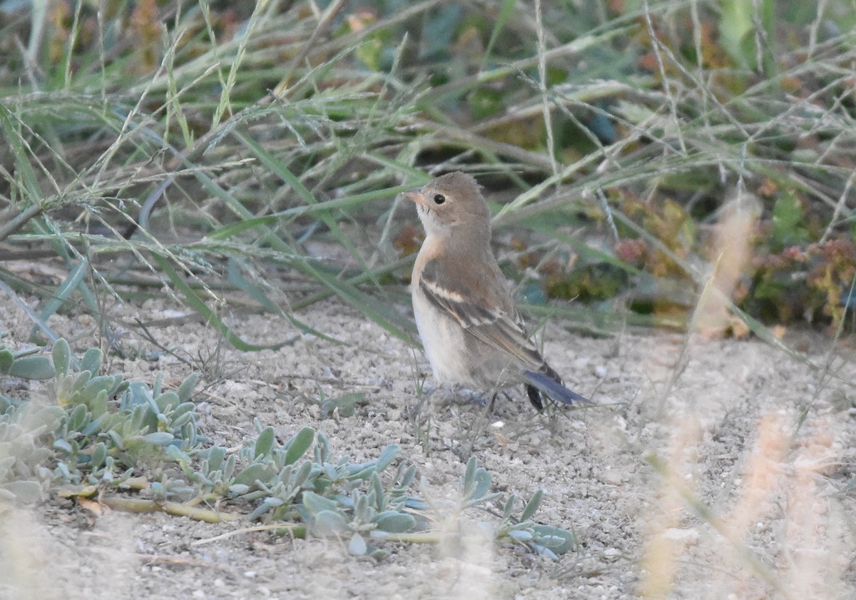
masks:
<svg viewBox="0 0 856 600"><path fill-rule="evenodd" d="M276 431L256 419L257 435L241 449L211 445L199 431L192 401L198 375L165 389L160 374L152 385L100 374L103 359L98 348L77 358L65 340L54 344L50 356L13 353L0 345L0 371L46 380L55 402L37 406L0 396L0 499L38 500L51 482L72 485L65 496L134 489L140 492L134 499L99 497L127 510L234 518L198 506L217 503L243 509L250 520L294 523L300 530L292 529L293 534L342 538L352 554L379 559L388 554L377 546L384 540L432 541L437 514L471 509L488 514L500 496L490 493L490 472L473 458L456 499L432 501L424 484L420 495L413 490L415 466L402 462L389 475L399 446L390 444L376 459L355 463L332 456L330 440L312 427L278 443ZM512 495L498 523L494 518L479 526L501 542L556 557L575 539L572 532L534 523L543 495L538 490L519 519L513 516L518 499Z"/></svg>

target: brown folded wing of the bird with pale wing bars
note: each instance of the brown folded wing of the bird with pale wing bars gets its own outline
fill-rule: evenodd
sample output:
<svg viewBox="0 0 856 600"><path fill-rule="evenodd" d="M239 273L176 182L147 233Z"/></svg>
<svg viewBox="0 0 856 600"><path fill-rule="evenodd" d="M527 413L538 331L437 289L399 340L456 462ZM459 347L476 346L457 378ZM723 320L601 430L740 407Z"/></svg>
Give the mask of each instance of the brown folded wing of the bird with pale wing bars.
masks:
<svg viewBox="0 0 856 600"><path fill-rule="evenodd" d="M419 277L419 289L432 305L455 318L481 342L508 353L527 367L538 369L544 365L538 348L526 336L508 289L498 287L504 279L485 277L479 281L478 274L469 279L441 285L437 282L437 264L429 263Z"/></svg>

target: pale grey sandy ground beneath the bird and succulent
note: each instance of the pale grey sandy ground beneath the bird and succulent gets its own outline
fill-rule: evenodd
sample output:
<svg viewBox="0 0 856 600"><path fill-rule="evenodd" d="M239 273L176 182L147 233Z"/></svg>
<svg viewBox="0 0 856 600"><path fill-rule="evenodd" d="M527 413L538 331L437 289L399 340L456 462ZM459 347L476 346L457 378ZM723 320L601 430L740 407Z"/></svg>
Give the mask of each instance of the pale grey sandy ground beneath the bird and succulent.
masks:
<svg viewBox="0 0 856 600"><path fill-rule="evenodd" d="M118 319L175 317L176 306L116 306ZM550 561L479 537L465 514L458 544L385 544L375 562L337 540L226 532L166 514L94 514L56 496L0 516L0 598L853 598L856 597L856 359L853 345L794 335L805 359L762 342L675 334L593 339L561 322L545 328L550 362L596 407L537 414L520 392L481 408L443 390L419 419L425 360L336 301L300 317L344 342L299 335L270 317L230 323L253 342L292 345L240 353L193 321L153 330L205 366L202 427L240 443L253 419L281 440L311 425L335 454L369 460L388 443L448 494L466 455L494 490L529 497L537 520L573 529L576 550ZM78 350L96 342L92 319L52 318ZM0 297L0 327L21 345L27 318ZM177 381L190 371L139 331L110 371ZM320 393L366 393L353 417L324 419ZM801 419L801 417L803 417ZM851 489L847 489L847 484Z"/></svg>

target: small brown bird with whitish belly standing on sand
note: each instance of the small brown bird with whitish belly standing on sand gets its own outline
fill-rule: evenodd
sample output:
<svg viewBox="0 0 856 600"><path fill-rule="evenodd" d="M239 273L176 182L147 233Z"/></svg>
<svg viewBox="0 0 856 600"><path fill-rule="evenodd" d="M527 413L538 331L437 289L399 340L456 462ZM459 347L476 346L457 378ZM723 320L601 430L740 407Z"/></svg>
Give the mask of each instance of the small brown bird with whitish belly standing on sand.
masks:
<svg viewBox="0 0 856 600"><path fill-rule="evenodd" d="M588 403L562 384L526 334L490 249L490 210L475 178L456 171L405 195L425 227L411 294L434 380L494 392L523 383L538 410L542 394Z"/></svg>

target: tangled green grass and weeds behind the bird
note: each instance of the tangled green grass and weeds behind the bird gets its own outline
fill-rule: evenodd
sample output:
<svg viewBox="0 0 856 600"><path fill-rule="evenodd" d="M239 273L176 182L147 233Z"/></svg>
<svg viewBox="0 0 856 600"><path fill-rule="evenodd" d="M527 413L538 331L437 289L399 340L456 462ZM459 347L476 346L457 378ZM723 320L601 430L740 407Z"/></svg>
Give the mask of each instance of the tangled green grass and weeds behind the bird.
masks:
<svg viewBox="0 0 856 600"><path fill-rule="evenodd" d="M846 0L3 0L0 288L43 342L81 304L113 341L105 298L164 294L242 349L224 313L306 330L331 295L413 340L397 194L461 169L536 318L681 330L716 289L710 335L852 331L854 22Z"/></svg>

